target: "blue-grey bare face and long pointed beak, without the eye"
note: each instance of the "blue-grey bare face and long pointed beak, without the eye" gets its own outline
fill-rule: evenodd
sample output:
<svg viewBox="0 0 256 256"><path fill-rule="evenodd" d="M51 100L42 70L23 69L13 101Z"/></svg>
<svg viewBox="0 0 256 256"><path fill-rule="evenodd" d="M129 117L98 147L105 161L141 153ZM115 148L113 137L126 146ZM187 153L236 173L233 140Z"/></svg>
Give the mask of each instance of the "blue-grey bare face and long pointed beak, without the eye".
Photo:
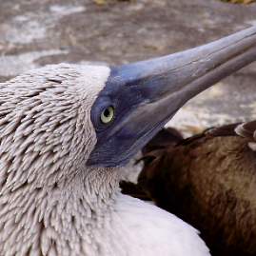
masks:
<svg viewBox="0 0 256 256"><path fill-rule="evenodd" d="M256 26L195 49L111 68L91 109L88 165L123 166L189 99L256 60ZM100 124L104 108L112 121Z"/></svg>

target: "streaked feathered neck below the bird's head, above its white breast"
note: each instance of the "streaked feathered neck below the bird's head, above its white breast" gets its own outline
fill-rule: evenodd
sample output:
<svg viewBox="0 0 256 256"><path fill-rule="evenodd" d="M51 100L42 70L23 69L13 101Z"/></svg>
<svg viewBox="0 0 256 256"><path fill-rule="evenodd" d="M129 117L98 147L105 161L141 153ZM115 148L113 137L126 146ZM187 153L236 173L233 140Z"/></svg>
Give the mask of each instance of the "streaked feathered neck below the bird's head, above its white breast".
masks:
<svg viewBox="0 0 256 256"><path fill-rule="evenodd" d="M93 255L111 221L119 174L119 167L87 167L57 186L26 184L3 193L0 250L8 251L5 255L15 250L24 255Z"/></svg>

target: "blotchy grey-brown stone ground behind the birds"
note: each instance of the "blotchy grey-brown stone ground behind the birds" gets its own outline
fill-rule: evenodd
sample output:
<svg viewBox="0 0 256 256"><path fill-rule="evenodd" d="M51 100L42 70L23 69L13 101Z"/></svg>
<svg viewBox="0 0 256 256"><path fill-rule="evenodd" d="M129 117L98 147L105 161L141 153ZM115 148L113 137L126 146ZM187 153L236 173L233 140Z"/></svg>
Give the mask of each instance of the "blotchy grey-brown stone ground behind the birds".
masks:
<svg viewBox="0 0 256 256"><path fill-rule="evenodd" d="M256 25L255 13L256 3L216 0L0 1L0 81L46 64L113 66L190 49ZM255 77L256 64L236 72L169 125L189 135L256 118ZM135 180L139 169L124 175Z"/></svg>

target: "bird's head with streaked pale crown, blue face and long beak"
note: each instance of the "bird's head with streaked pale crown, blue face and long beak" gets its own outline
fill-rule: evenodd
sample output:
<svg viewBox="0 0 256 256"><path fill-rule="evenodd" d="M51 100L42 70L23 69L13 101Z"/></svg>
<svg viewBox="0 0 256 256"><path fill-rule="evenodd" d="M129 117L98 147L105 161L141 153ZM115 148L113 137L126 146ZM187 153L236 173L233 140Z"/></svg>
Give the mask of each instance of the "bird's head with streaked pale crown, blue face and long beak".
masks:
<svg viewBox="0 0 256 256"><path fill-rule="evenodd" d="M47 66L2 84L0 187L126 165L189 99L256 59L255 33L112 68Z"/></svg>

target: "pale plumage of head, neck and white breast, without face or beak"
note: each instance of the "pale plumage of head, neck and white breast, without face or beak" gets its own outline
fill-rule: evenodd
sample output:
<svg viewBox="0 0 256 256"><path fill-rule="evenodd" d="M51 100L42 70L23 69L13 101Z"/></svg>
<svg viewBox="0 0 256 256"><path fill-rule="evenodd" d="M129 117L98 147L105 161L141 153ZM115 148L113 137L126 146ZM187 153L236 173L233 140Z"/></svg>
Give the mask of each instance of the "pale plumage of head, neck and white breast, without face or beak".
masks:
<svg viewBox="0 0 256 256"><path fill-rule="evenodd" d="M181 238L208 255L194 228L120 195L120 167L86 166L90 108L108 75L62 64L1 84L1 255L188 255Z"/></svg>

